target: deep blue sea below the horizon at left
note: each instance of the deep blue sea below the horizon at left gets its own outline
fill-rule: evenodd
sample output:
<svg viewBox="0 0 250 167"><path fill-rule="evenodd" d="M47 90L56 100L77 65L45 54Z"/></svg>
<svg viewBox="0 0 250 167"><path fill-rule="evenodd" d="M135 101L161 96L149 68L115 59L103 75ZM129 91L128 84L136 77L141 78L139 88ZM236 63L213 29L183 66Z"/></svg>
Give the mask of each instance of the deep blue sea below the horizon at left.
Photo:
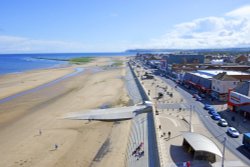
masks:
<svg viewBox="0 0 250 167"><path fill-rule="evenodd" d="M130 52L119 53L46 53L46 54L0 54L0 75L22 73L29 70L67 66L71 58L132 56Z"/></svg>

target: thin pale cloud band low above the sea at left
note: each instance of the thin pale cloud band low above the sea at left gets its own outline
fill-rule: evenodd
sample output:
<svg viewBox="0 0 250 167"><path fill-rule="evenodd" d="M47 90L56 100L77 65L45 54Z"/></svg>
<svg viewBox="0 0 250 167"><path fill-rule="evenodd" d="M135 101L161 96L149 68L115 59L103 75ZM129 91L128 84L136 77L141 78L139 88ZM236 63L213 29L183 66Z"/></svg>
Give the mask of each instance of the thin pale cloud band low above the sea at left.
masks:
<svg viewBox="0 0 250 167"><path fill-rule="evenodd" d="M128 41L82 43L0 35L0 53L120 52L131 46Z"/></svg>

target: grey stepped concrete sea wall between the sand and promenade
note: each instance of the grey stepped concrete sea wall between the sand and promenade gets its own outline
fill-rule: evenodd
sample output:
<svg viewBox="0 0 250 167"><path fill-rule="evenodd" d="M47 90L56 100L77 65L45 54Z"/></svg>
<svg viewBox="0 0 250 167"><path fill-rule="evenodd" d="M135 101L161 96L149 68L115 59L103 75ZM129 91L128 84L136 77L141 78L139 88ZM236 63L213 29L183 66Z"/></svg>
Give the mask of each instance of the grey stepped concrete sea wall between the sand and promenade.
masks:
<svg viewBox="0 0 250 167"><path fill-rule="evenodd" d="M127 90L133 104L143 103L148 100L148 96L129 64L126 71L126 81ZM160 166L155 137L155 126L152 112L139 114L132 120L126 153L128 167ZM143 156L138 157L132 155L140 144L142 144L141 150L144 151Z"/></svg>

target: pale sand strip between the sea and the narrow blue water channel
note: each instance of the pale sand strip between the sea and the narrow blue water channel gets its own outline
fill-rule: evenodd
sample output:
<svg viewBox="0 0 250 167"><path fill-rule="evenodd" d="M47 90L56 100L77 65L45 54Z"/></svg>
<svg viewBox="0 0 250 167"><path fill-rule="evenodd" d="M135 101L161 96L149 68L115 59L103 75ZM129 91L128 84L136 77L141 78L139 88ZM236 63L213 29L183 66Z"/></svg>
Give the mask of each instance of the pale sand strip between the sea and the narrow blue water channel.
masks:
<svg viewBox="0 0 250 167"><path fill-rule="evenodd" d="M113 60L116 58L123 58L123 56L93 57L93 61L82 64L68 63L67 65L62 64L50 68L33 69L0 75L0 101L9 96L14 96L15 94L34 89L35 87L69 75L73 73L76 68L102 67L106 64L105 62L100 63L102 60ZM8 83L8 81L10 82Z"/></svg>

